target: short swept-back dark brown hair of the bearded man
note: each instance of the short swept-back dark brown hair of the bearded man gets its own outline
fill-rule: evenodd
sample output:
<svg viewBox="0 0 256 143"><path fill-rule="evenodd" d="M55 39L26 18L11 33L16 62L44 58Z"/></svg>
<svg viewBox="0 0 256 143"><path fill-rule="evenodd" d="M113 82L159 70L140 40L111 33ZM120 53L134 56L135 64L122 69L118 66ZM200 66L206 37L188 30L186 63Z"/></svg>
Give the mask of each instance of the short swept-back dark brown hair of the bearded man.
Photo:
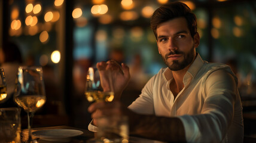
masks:
<svg viewBox="0 0 256 143"><path fill-rule="evenodd" d="M187 20L188 29L190 30L192 38L197 33L196 15L193 14L190 8L182 2L170 2L169 4L162 5L154 12L151 17L150 25L157 38L157 26L173 18L184 17Z"/></svg>

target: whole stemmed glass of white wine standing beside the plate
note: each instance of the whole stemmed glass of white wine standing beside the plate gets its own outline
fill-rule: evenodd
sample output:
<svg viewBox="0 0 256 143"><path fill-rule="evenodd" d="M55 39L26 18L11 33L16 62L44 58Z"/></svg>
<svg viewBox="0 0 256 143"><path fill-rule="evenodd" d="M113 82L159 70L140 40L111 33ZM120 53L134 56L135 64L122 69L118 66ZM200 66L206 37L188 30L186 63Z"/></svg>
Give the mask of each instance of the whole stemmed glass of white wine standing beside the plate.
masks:
<svg viewBox="0 0 256 143"><path fill-rule="evenodd" d="M33 114L46 101L42 67L19 67L14 101L28 113L29 139Z"/></svg>

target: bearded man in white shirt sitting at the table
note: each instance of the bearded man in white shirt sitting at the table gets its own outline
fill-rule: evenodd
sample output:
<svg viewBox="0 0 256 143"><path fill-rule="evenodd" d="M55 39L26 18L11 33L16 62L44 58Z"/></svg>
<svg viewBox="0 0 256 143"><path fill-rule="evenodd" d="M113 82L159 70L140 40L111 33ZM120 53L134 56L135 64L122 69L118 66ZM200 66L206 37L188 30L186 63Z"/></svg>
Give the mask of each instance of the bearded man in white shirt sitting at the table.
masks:
<svg viewBox="0 0 256 143"><path fill-rule="evenodd" d="M208 63L196 53L196 16L181 2L158 8L151 18L160 69L127 109L118 101L129 81L129 68L114 61L97 63L101 73L112 70L114 102L90 105L92 118L125 114L130 133L173 142L243 142L242 104L237 79L225 64ZM103 75L103 74L102 74ZM103 76L102 76L103 78ZM93 130L92 125L89 129Z"/></svg>

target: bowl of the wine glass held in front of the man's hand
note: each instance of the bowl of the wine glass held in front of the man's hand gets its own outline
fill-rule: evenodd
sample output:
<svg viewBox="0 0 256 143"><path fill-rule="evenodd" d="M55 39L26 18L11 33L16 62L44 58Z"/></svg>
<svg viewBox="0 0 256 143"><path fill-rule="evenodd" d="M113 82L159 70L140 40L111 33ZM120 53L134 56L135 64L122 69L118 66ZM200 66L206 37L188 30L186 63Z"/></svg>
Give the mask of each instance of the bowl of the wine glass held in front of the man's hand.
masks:
<svg viewBox="0 0 256 143"><path fill-rule="evenodd" d="M96 67L89 67L86 76L86 99L89 102L106 101L111 102L114 99L112 86L112 76L110 71L103 71L100 79L99 70Z"/></svg>

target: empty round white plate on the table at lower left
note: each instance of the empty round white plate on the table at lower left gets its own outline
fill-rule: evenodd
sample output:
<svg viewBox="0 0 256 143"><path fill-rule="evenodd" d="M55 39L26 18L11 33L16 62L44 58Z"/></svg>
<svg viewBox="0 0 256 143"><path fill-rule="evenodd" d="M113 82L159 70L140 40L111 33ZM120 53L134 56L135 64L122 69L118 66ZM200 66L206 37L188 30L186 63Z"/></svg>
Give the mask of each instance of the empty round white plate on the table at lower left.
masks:
<svg viewBox="0 0 256 143"><path fill-rule="evenodd" d="M47 129L32 132L32 135L45 141L69 141L69 138L83 133L81 130L74 129Z"/></svg>

